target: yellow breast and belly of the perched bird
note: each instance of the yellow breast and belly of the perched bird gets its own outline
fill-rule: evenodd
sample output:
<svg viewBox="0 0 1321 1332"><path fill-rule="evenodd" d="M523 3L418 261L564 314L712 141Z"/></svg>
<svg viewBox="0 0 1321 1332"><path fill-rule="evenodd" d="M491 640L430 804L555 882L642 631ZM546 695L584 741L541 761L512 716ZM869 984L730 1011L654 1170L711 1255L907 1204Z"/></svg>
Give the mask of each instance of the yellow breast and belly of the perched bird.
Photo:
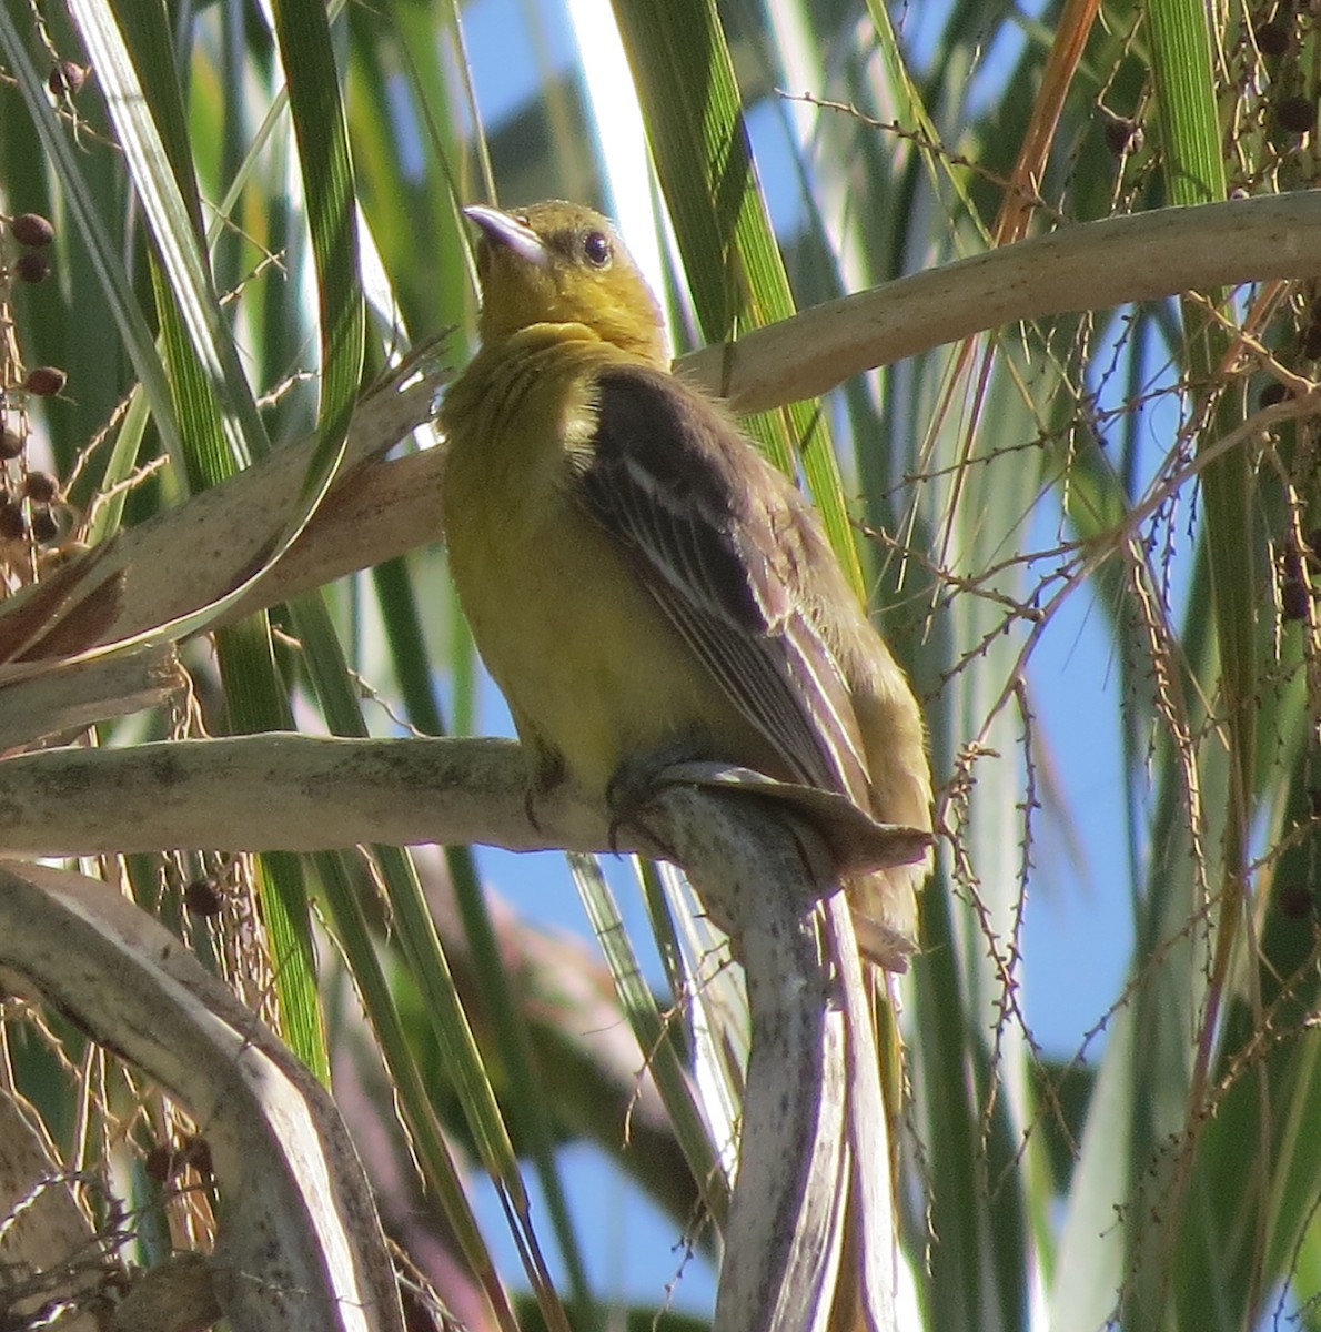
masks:
<svg viewBox="0 0 1321 1332"><path fill-rule="evenodd" d="M774 769L719 686L574 500L569 461L595 425L598 342L482 352L442 409L450 570L521 739L591 799L622 762L672 753ZM720 735L711 717L728 717Z"/></svg>

